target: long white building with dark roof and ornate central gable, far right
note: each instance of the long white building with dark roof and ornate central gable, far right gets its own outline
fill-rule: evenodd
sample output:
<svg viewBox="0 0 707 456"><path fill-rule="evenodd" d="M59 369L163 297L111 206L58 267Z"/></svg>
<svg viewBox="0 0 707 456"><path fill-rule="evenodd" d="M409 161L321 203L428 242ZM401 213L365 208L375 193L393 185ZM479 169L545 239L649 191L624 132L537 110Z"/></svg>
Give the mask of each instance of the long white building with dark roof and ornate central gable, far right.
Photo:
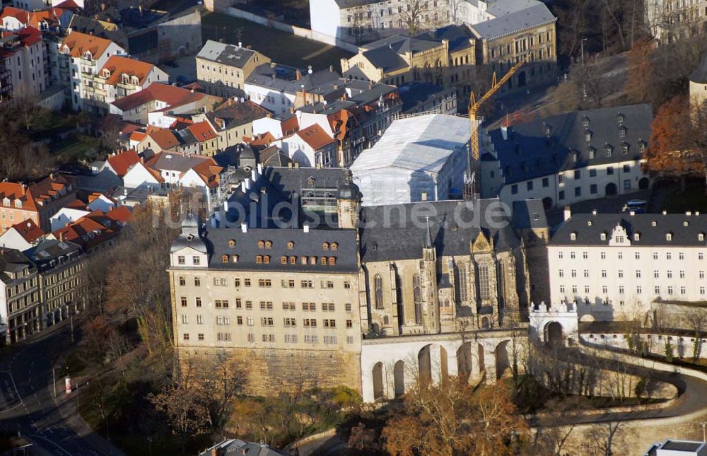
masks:
<svg viewBox="0 0 707 456"><path fill-rule="evenodd" d="M568 214L547 246L551 302L580 319L649 321L661 300L707 297L707 221L686 214Z"/></svg>

